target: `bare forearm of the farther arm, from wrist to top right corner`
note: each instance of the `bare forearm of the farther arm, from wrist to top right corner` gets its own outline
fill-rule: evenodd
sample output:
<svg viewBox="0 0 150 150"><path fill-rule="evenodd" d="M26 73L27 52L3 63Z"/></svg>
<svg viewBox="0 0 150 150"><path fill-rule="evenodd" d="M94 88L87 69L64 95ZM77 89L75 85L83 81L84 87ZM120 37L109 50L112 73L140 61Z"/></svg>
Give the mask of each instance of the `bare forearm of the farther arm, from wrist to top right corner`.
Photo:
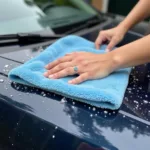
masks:
<svg viewBox="0 0 150 150"><path fill-rule="evenodd" d="M150 16L150 0L139 0L129 15L118 26L127 32L138 22Z"/></svg>

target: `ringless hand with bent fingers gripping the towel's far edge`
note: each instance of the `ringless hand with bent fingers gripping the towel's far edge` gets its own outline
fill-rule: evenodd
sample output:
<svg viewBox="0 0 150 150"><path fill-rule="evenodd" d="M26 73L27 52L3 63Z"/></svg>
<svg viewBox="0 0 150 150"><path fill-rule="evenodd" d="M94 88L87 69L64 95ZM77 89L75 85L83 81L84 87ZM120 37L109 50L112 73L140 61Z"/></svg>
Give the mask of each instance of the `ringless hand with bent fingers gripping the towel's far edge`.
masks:
<svg viewBox="0 0 150 150"><path fill-rule="evenodd" d="M103 42L109 41L106 51L111 51L112 48L115 47L124 38L125 33L126 30L121 26L100 31L95 41L96 49L99 49Z"/></svg>

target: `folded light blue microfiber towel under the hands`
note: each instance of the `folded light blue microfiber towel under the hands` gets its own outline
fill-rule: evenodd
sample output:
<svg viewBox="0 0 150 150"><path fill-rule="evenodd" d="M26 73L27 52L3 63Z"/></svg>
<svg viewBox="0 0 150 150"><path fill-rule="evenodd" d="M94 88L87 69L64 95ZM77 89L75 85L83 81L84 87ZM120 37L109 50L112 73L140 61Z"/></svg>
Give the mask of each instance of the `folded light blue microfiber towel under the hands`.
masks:
<svg viewBox="0 0 150 150"><path fill-rule="evenodd" d="M98 54L104 53L105 48L106 45L103 45L101 50L96 50L93 42L70 35L59 39L39 56L11 70L9 78L17 83L39 87L93 106L115 110L122 104L131 71L129 68L118 70L106 78L85 81L79 85L68 84L74 76L61 79L48 79L43 76L46 71L45 65L67 53L86 51Z"/></svg>

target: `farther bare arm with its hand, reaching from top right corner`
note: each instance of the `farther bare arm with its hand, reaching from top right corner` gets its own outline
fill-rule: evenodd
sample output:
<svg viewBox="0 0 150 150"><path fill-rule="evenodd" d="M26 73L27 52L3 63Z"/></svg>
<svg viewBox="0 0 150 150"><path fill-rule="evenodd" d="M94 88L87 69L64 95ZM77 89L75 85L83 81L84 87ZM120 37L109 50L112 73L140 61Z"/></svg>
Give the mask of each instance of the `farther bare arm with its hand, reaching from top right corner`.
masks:
<svg viewBox="0 0 150 150"><path fill-rule="evenodd" d="M129 15L117 27L101 31L95 41L97 49L104 41L109 41L107 51L112 50L123 38L126 32L135 24L150 16L150 0L140 0Z"/></svg>

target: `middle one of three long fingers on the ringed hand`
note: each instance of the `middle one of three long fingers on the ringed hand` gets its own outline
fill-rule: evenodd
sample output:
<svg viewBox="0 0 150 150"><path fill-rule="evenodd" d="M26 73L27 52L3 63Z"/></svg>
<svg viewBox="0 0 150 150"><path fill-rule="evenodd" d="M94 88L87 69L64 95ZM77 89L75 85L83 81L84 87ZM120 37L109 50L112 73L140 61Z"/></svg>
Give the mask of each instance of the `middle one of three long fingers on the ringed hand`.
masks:
<svg viewBox="0 0 150 150"><path fill-rule="evenodd" d="M56 67L45 72L44 76L48 77L49 75L55 74L61 70L64 70L65 68L72 67L72 66L73 66L73 64L71 62L61 63L61 64L57 65Z"/></svg>

